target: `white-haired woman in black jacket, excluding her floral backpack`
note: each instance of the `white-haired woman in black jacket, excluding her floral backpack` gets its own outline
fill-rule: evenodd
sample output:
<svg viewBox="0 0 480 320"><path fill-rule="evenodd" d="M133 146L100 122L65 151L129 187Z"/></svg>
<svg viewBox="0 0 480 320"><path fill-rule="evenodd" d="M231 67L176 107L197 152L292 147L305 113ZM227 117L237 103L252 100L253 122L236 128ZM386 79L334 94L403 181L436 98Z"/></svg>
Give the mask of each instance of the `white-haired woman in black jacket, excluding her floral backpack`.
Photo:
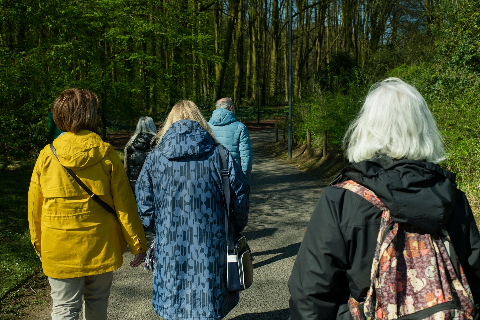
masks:
<svg viewBox="0 0 480 320"><path fill-rule="evenodd" d="M288 281L291 319L352 319L349 298L362 302L370 288L383 211L337 185L348 180L376 193L395 222L431 234L446 228L479 303L479 231L455 173L437 164L447 154L417 89L398 78L373 85L344 141L352 164L313 211Z"/></svg>

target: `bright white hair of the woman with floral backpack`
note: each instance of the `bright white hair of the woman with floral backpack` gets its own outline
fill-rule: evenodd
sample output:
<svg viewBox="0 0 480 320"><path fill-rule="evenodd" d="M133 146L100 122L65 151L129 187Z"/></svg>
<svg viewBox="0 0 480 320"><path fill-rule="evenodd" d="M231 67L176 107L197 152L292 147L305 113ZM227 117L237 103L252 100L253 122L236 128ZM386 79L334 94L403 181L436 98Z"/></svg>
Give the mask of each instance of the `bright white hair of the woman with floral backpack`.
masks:
<svg viewBox="0 0 480 320"><path fill-rule="evenodd" d="M439 163L448 158L425 99L398 78L374 84L344 136L350 162L380 155Z"/></svg>

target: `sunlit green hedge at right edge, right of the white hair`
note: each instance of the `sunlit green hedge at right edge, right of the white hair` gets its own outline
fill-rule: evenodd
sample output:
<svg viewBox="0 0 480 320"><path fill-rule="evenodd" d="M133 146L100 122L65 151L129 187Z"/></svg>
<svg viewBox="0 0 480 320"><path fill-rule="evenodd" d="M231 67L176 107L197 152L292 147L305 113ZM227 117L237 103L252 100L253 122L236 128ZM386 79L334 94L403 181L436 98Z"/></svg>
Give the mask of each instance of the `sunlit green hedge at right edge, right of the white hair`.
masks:
<svg viewBox="0 0 480 320"><path fill-rule="evenodd" d="M447 19L432 26L438 39L432 59L389 74L423 95L450 154L444 165L469 193L480 188L480 13L474 2L444 3Z"/></svg>

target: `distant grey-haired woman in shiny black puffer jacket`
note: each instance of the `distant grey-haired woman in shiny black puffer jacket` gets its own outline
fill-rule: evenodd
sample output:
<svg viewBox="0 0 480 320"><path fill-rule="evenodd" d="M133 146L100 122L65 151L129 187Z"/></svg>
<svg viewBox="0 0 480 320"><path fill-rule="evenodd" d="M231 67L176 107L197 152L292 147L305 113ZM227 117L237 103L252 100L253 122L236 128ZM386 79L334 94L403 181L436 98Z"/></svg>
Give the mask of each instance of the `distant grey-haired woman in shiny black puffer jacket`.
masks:
<svg viewBox="0 0 480 320"><path fill-rule="evenodd" d="M150 142L156 135L156 125L152 118L141 117L137 129L125 145L125 159L123 166L127 171L128 180L135 194L135 184L138 175L144 166L147 153L150 151Z"/></svg>

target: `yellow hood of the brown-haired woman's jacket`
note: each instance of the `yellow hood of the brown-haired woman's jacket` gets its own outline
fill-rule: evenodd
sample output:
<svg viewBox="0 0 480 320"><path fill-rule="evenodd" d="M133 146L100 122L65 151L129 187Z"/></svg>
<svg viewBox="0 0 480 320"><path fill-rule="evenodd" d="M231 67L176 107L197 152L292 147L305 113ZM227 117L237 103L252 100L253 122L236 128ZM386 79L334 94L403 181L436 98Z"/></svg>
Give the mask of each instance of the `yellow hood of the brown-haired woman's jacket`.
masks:
<svg viewBox="0 0 480 320"><path fill-rule="evenodd" d="M74 134L66 132L53 141L61 164L72 170L79 170L96 164L113 150L112 145L103 142L99 135L92 131L80 130ZM55 155L49 146L45 147L48 155Z"/></svg>

